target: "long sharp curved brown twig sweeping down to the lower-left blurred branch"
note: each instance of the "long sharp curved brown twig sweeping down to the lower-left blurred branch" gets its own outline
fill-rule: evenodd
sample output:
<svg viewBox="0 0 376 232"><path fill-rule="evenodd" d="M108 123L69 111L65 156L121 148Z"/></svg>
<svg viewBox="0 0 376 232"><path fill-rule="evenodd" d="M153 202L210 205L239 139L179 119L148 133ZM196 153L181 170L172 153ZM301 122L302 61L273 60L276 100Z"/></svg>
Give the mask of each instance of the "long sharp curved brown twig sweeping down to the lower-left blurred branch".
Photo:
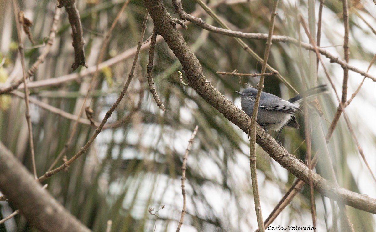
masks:
<svg viewBox="0 0 376 232"><path fill-rule="evenodd" d="M146 11L145 17L144 17L144 23L146 23L147 15L148 15L148 13ZM130 72L129 72L129 75L128 75L128 79L127 79L127 81L126 81L126 83L124 85L124 88L121 91L118 99L112 105L112 107L107 111L107 113L105 114L105 117L103 118L103 120L100 123L99 127L97 127L97 129L95 130L94 134L90 137L90 139L88 140L88 142L86 142L85 146L83 146L79 150L79 152L77 152L72 158L70 158L70 160L68 160L67 162L64 162L64 164L62 164L61 166L59 166L56 169L53 169L51 171L47 171L43 176L39 177L38 180L40 182L44 181L45 179L47 179L47 178L55 175L56 173L60 172L61 170L64 170L66 167L70 166L71 163L73 163L77 158L79 158L82 154L84 154L88 150L89 146L92 144L92 142L94 142L94 140L96 139L96 137L98 136L98 134L102 131L103 126L106 124L107 120L111 117L111 114L117 108L117 106L119 105L121 99L123 99L125 93L128 90L130 82L132 81L132 78L134 76L133 72L134 72L134 70L136 68L136 63L137 63L137 60L138 60L138 55L139 55L139 52L140 52L142 41L144 39L144 35L145 35L145 30L143 28L141 30L140 39L139 39L139 42L137 44L137 51L136 51L136 54L135 54L135 58L133 60L132 68L130 69Z"/></svg>

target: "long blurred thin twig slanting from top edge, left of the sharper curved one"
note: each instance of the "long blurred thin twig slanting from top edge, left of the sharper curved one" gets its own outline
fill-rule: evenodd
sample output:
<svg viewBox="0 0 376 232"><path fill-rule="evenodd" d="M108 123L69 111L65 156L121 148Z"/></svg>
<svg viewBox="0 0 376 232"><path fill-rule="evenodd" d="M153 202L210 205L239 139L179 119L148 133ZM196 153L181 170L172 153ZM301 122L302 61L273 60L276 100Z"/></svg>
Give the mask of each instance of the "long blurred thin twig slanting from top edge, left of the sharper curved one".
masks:
<svg viewBox="0 0 376 232"><path fill-rule="evenodd" d="M126 6L128 5L130 0L127 0L126 2L124 2L123 6L121 7L120 11L118 12L115 20L112 22L112 25L109 29L109 31L106 33L106 37L105 37L105 40L103 41L103 44L102 44L102 48L100 50L100 53L99 53L99 58L97 60L97 65L96 65L96 71L94 72L94 75L92 77L92 80L90 81L90 85L89 85L89 89L88 89L88 92L86 93L85 95L85 98L83 99L83 103L82 103L82 106L81 106L81 109L80 109L80 112L78 113L77 115L77 119L76 121L74 122L73 124L73 127L72 127L72 130L71 130L71 133L70 133L70 136L68 138L68 142L65 143L64 145L64 148L60 151L59 155L55 158L55 160L52 162L51 166L49 167L49 169L47 170L47 172L49 172L50 170L52 170L52 168L56 165L56 163L58 163L58 161L61 159L61 157L65 154L65 151L67 151L68 147L70 146L72 140L73 140L73 137L74 137L74 134L76 134L76 130L77 130L77 126L78 126L78 123L79 123L79 120L81 118L81 115L83 113L83 110L85 108L85 104L86 104L86 101L88 99L88 96L89 96L89 92L92 88L92 86L94 85L94 83L96 82L96 77L98 75L98 71L99 71L99 64L100 62L102 62L102 59L103 59L103 56L104 56L104 53L105 53L105 48L107 47L107 44L108 44L108 40L109 40L109 37L111 35L111 32L112 30L114 29L117 21L119 20L119 17L121 15L121 13L124 11L124 9L126 8ZM85 59L85 56L84 56L84 59ZM75 61L76 63L76 61ZM74 65L74 64L73 64ZM73 68L73 65L72 65L72 68ZM86 67L87 68L87 67Z"/></svg>

